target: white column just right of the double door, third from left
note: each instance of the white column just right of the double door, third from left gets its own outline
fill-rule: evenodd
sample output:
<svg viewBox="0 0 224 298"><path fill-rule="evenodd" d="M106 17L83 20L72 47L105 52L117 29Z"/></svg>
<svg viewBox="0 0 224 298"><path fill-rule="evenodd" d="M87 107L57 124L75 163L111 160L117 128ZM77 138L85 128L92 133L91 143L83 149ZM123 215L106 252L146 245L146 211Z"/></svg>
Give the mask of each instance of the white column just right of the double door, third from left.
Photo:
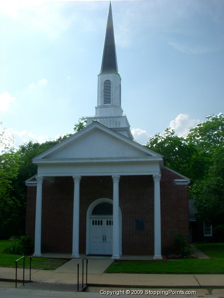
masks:
<svg viewBox="0 0 224 298"><path fill-rule="evenodd" d="M119 247L119 180L120 176L112 176L113 180L113 255L112 259L120 259Z"/></svg>

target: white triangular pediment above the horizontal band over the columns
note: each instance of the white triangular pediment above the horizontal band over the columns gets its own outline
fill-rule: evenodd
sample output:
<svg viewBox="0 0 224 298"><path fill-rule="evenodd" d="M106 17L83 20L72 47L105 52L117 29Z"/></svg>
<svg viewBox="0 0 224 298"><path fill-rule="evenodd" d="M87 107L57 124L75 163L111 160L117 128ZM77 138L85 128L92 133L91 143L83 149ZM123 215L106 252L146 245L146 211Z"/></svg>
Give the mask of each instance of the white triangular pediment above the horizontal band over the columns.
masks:
<svg viewBox="0 0 224 298"><path fill-rule="evenodd" d="M46 159L95 159L162 157L139 143L94 122L68 139L33 158Z"/></svg>

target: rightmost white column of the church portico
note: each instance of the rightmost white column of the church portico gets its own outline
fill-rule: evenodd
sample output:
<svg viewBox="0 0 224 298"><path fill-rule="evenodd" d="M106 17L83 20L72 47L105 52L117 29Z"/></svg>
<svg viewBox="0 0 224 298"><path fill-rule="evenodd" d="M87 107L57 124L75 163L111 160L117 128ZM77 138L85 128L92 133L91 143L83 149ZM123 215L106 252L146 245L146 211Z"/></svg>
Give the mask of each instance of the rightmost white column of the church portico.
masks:
<svg viewBox="0 0 224 298"><path fill-rule="evenodd" d="M160 178L153 175L154 180L154 260L161 260L161 212L160 212Z"/></svg>

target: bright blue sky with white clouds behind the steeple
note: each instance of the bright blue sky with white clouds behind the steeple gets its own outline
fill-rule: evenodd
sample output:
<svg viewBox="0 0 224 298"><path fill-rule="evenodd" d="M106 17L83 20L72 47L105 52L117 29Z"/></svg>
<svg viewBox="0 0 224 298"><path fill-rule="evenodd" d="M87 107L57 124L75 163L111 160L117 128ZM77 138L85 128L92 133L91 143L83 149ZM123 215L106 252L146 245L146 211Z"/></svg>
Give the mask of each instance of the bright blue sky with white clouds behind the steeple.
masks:
<svg viewBox="0 0 224 298"><path fill-rule="evenodd" d="M0 5L0 121L18 146L95 115L109 1ZM121 105L134 139L224 112L223 0L112 0Z"/></svg>

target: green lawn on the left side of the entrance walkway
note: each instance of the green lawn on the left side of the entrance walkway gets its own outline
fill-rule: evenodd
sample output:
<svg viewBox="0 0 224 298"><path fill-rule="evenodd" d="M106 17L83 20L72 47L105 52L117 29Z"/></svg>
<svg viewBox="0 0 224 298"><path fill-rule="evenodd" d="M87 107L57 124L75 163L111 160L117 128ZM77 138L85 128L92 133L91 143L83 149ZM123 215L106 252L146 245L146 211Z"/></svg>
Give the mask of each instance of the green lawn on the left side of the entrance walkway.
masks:
<svg viewBox="0 0 224 298"><path fill-rule="evenodd" d="M0 267L15 267L15 261L19 259L20 255L10 255L1 253L4 248L10 246L12 241L0 240ZM39 270L55 270L65 264L67 261L62 259L49 259L49 258L32 258L31 268ZM23 266L23 260L17 263L18 268ZM29 268L29 258L25 258L25 267Z"/></svg>

